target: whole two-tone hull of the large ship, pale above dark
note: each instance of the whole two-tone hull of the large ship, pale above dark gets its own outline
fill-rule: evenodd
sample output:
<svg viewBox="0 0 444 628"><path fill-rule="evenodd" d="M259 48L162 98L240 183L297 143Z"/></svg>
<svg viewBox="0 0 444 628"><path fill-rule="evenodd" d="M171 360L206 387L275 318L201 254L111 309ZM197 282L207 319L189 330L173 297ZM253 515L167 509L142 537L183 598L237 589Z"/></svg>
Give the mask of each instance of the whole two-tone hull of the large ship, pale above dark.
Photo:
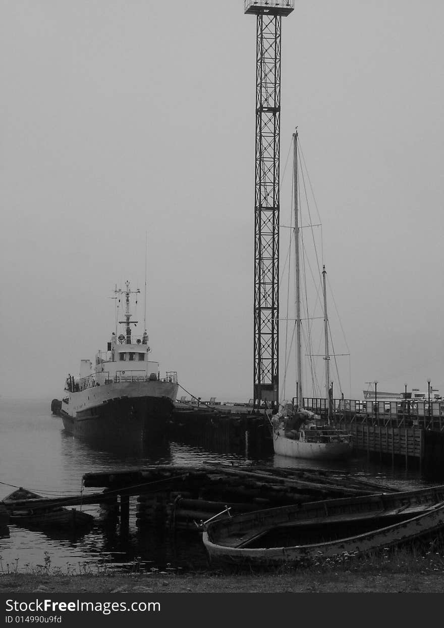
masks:
<svg viewBox="0 0 444 628"><path fill-rule="evenodd" d="M94 441L158 441L166 436L177 384L110 383L63 399L61 418L68 433Z"/></svg>

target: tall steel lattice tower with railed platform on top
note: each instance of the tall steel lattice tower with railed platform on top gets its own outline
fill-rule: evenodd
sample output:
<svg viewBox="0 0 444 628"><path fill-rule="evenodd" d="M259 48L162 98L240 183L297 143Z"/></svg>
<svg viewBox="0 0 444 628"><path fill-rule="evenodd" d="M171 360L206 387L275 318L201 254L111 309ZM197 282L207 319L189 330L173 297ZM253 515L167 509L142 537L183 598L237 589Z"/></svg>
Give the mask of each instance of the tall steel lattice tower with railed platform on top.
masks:
<svg viewBox="0 0 444 628"><path fill-rule="evenodd" d="M282 16L294 0L245 0L256 15L255 165L255 406L278 401L279 389L279 159Z"/></svg>

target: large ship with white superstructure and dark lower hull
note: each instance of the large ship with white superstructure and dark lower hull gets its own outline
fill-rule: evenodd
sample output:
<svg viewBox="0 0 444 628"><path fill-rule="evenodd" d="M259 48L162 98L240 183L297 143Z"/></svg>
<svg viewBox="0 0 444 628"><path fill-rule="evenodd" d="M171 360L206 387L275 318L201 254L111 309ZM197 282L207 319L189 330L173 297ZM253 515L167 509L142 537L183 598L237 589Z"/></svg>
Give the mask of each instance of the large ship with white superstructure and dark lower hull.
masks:
<svg viewBox="0 0 444 628"><path fill-rule="evenodd" d="M79 376L66 378L59 412L65 430L74 436L147 441L166 433L177 398L177 373L161 377L159 362L149 359L146 329L141 336L132 333L137 321L132 320L130 299L139 293L130 290L129 281L125 290L116 286L118 322L107 350L98 351L93 362L81 360Z"/></svg>

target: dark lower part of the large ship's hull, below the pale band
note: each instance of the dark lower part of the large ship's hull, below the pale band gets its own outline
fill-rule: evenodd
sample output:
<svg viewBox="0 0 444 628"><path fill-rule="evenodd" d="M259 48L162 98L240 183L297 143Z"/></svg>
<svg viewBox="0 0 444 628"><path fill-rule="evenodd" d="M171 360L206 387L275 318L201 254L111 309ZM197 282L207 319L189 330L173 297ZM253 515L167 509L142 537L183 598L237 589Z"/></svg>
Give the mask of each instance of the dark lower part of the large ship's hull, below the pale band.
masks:
<svg viewBox="0 0 444 628"><path fill-rule="evenodd" d="M173 404L167 397L110 399L85 409L75 418L61 411L63 426L88 440L147 441L164 438Z"/></svg>

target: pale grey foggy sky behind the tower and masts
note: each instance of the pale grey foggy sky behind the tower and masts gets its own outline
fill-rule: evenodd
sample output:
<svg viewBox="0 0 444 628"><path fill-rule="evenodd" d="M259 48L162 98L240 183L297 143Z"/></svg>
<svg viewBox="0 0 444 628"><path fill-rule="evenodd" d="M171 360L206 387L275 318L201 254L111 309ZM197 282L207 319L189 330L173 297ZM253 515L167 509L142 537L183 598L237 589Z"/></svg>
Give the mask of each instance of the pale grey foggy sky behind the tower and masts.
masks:
<svg viewBox="0 0 444 628"><path fill-rule="evenodd" d="M106 348L115 284L140 288L142 316L146 256L151 359L179 395L248 401L255 16L241 0L0 14L0 394L60 399ZM444 394L443 23L440 0L295 0L282 21L282 173L297 126L346 398L375 380Z"/></svg>

